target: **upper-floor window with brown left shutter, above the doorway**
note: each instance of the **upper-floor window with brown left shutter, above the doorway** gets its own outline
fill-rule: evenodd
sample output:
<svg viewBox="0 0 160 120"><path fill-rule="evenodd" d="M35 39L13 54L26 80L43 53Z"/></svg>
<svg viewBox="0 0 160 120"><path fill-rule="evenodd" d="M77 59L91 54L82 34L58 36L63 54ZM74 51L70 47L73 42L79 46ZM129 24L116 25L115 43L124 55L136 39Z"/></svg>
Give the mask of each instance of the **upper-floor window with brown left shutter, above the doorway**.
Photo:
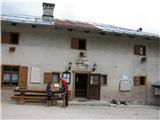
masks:
<svg viewBox="0 0 160 120"><path fill-rule="evenodd" d="M86 50L86 48L87 48L86 39L72 38L71 48L80 49L80 50Z"/></svg>

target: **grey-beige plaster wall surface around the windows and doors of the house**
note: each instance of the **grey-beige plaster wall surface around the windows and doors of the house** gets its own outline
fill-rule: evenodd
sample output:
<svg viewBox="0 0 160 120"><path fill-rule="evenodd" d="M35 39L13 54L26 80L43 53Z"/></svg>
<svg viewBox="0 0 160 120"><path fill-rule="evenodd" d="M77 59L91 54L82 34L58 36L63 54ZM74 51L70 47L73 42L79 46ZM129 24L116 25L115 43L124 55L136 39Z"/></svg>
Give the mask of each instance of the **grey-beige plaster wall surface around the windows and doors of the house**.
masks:
<svg viewBox="0 0 160 120"><path fill-rule="evenodd" d="M69 32L62 29L40 27L33 29L31 25L11 26L2 24L2 31L20 32L18 45L2 44L2 64L26 65L29 67L28 87L45 88L43 73L50 71L63 72L71 61L75 63L80 50L71 49L71 38L87 39L87 56L89 64L98 65L95 72L107 74L107 85L101 87L101 99L123 99L151 104L153 91L151 82L160 78L160 50L157 40L146 40L141 37L100 35L83 31ZM147 63L141 63L141 56L134 55L134 45L145 45ZM16 51L9 53L10 46ZM40 66L41 82L30 82L31 66ZM143 75L147 78L146 86L132 86L130 92L119 91L122 75L133 77ZM72 90L72 83L69 89ZM74 92L74 91L72 91Z"/></svg>

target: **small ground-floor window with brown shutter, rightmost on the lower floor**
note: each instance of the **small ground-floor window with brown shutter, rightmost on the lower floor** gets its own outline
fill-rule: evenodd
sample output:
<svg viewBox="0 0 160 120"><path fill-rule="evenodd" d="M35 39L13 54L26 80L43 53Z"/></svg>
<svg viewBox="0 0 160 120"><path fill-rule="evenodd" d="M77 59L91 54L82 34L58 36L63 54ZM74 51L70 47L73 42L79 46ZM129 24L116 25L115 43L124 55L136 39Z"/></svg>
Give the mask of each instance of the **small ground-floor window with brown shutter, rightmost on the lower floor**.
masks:
<svg viewBox="0 0 160 120"><path fill-rule="evenodd" d="M145 76L135 76L134 77L134 86L145 85L146 78Z"/></svg>

